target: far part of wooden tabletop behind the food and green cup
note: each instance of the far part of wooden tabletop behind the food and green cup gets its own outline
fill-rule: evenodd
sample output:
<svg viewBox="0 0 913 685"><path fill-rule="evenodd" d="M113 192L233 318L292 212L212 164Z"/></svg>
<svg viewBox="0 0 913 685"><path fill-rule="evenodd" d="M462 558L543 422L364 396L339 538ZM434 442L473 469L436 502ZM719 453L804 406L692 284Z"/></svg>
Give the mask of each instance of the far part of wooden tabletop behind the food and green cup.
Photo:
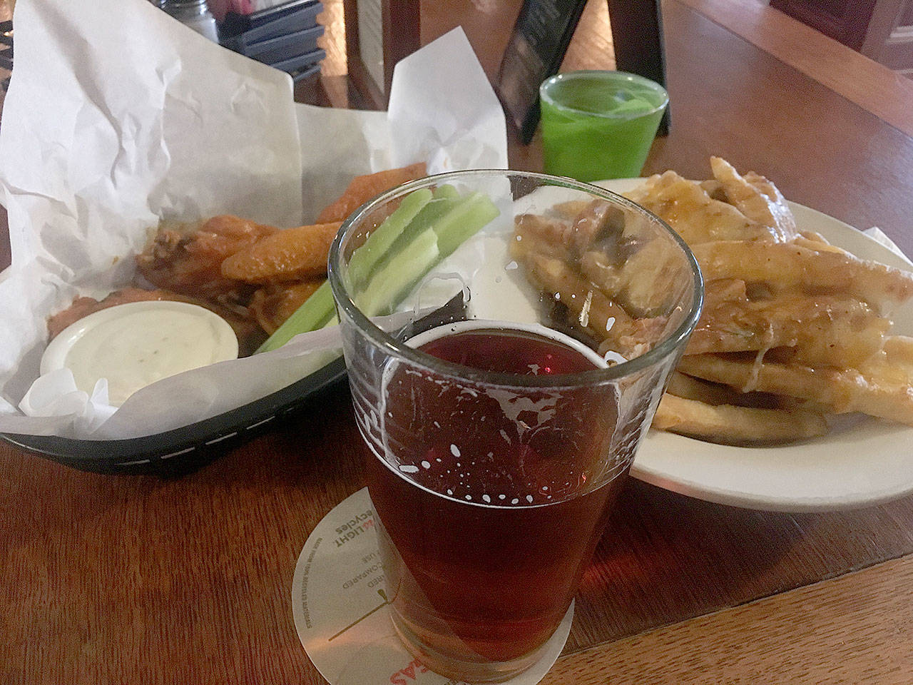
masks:
<svg viewBox="0 0 913 685"><path fill-rule="evenodd" d="M607 13L593 5L603 6L587 5L562 70L614 66ZM462 25L494 78L518 11L516 0L426 3L423 39ZM663 19L672 127L656 139L644 175L676 169L706 178L716 154L766 175L794 202L860 229L880 227L913 254L913 137L896 125L913 112L913 82L892 89L887 68L806 37L807 26L755 0L666 0ZM511 168L541 170L538 136L526 146L511 141Z"/></svg>

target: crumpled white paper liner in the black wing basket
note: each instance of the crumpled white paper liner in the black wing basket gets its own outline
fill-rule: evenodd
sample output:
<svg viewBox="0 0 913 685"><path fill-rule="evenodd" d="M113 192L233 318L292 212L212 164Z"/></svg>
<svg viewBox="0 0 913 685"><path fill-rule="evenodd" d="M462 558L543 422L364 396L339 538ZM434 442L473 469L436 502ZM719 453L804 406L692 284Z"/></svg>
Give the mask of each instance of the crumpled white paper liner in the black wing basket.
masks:
<svg viewBox="0 0 913 685"><path fill-rule="evenodd" d="M295 104L287 74L144 0L31 0L15 25L0 127L13 254L0 277L0 432L150 435L275 392L338 354L320 332L299 336L164 379L116 412L101 388L74 394L55 378L29 397L38 416L25 416L17 406L37 379L47 316L129 283L160 219L296 226L355 174L422 160L429 173L507 166L503 113L461 29L397 65L389 112L362 112Z"/></svg>

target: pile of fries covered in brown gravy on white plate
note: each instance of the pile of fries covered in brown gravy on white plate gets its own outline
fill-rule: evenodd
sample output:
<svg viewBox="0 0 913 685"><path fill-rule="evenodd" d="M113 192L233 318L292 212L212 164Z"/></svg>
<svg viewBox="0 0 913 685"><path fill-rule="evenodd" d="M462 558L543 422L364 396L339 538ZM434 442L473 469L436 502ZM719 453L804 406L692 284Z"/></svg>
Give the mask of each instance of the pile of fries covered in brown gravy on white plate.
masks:
<svg viewBox="0 0 913 685"><path fill-rule="evenodd" d="M799 232L768 179L710 163L708 181L669 171L625 194L677 230L705 280L703 314L654 427L757 445L823 435L826 414L913 426L913 337L890 335L887 318L913 299L913 272ZM630 358L661 336L674 299L638 287L679 279L629 217L612 218L573 202L520 216L510 252L544 297L602 339L600 353Z"/></svg>

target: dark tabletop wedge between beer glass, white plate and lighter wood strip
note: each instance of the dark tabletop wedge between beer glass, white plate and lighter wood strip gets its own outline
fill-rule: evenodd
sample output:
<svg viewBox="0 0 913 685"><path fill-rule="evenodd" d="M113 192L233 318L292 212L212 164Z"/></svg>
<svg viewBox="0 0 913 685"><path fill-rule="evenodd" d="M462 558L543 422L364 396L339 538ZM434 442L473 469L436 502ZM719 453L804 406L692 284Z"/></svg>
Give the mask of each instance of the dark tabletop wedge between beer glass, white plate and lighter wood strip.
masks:
<svg viewBox="0 0 913 685"><path fill-rule="evenodd" d="M565 651L634 635L903 553L903 501L789 514L698 501L630 479L583 576ZM876 552L877 551L877 552Z"/></svg>

